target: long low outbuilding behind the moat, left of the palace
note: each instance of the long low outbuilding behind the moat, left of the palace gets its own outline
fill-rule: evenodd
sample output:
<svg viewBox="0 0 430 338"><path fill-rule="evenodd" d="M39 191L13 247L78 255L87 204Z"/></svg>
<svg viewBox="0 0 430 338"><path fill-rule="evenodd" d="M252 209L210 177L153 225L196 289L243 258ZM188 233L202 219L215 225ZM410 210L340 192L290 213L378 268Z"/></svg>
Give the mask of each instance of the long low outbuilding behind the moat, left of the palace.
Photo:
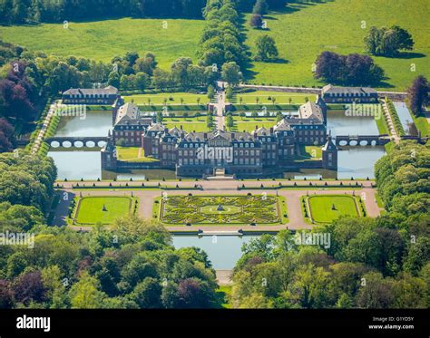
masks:
<svg viewBox="0 0 430 338"><path fill-rule="evenodd" d="M71 88L63 92L64 104L113 104L118 99L115 87L106 88Z"/></svg>

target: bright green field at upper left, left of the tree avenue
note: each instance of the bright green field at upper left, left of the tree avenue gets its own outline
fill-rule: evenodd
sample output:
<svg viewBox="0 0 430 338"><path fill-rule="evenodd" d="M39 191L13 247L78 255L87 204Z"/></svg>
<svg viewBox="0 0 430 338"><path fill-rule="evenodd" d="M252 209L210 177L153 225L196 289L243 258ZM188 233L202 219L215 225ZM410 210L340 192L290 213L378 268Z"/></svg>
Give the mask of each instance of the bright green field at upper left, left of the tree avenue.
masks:
<svg viewBox="0 0 430 338"><path fill-rule="evenodd" d="M167 29L162 28L167 21ZM0 26L5 42L16 43L32 51L75 55L111 61L128 51L155 53L161 68L167 69L181 56L196 61L196 48L203 20L131 19L88 23Z"/></svg>

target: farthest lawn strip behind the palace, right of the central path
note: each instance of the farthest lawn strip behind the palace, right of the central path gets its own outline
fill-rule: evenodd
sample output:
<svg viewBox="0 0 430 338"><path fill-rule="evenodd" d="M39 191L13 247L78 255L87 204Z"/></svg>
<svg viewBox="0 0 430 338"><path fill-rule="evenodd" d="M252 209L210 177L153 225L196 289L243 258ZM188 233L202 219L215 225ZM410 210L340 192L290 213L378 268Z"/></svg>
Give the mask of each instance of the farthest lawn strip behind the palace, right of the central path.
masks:
<svg viewBox="0 0 430 338"><path fill-rule="evenodd" d="M271 105L273 101L269 100L269 98L275 99L275 102L278 104L289 104L289 99L291 99L291 104L294 104L305 103L306 98L309 101L314 101L315 95L292 92L238 92L234 94L233 99L230 101L232 103L240 103L240 98L242 98L243 104L257 103L257 99L259 99L259 104Z"/></svg>

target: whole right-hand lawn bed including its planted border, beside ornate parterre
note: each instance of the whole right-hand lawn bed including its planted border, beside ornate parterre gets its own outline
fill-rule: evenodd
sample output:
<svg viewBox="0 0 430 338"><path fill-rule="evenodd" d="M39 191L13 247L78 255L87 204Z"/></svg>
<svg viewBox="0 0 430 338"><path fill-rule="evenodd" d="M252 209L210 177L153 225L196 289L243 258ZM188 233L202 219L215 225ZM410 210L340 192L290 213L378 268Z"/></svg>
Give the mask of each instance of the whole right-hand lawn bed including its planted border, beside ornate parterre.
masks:
<svg viewBox="0 0 430 338"><path fill-rule="evenodd" d="M304 216L310 223L331 223L341 216L366 216L363 201L357 196L309 196L302 198L301 202Z"/></svg>

